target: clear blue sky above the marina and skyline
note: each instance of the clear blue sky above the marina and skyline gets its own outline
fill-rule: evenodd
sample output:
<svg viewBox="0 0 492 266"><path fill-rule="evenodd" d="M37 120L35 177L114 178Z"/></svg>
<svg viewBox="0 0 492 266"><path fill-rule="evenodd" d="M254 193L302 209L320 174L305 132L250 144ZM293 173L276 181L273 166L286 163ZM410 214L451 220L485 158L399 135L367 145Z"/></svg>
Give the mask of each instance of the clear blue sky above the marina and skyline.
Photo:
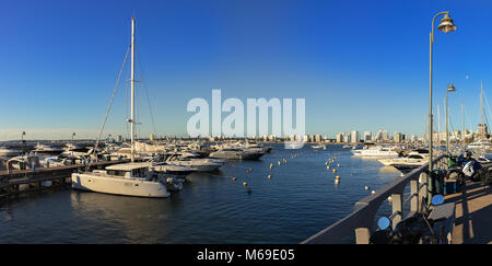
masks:
<svg viewBox="0 0 492 266"><path fill-rule="evenodd" d="M304 97L308 134L421 135L431 20L440 11L449 11L458 30L436 31L436 119L440 105L444 125L448 83L457 89L449 97L455 129L461 102L466 127L480 123L481 80L492 93L487 0L2 0L1 10L0 140L20 139L22 131L26 139L69 139L72 131L95 138L133 15L144 137L153 131L149 103L159 135L185 135L188 101L211 101L212 89L244 102ZM105 134L128 132L128 95L124 82Z"/></svg>

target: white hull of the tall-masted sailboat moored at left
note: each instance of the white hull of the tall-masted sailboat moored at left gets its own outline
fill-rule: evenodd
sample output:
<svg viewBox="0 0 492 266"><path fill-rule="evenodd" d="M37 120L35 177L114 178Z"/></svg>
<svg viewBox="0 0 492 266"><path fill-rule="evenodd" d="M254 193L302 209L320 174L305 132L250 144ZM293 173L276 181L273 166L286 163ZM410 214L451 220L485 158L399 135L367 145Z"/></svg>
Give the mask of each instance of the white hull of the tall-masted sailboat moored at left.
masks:
<svg viewBox="0 0 492 266"><path fill-rule="evenodd" d="M134 197L165 198L169 196L164 184L160 182L118 176L101 176L91 173L73 173L72 188Z"/></svg>

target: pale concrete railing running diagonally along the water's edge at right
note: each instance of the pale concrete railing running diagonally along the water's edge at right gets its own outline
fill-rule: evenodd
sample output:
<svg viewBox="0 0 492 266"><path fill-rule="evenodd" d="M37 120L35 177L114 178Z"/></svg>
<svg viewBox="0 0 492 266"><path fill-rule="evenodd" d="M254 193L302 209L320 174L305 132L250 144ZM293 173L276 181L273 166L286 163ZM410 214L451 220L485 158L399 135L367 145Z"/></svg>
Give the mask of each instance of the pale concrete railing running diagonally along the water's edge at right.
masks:
<svg viewBox="0 0 492 266"><path fill-rule="evenodd" d="M446 169L447 159L438 155L434 159L434 169ZM411 171L402 177L395 178L390 184L374 194L355 203L353 211L343 219L319 231L301 242L302 244L336 244L351 233L355 233L358 244L368 244L371 232L375 229L375 216L384 201L391 196L393 213L390 216L394 227L403 219L403 205L410 200L408 215L424 211L423 203L427 198L429 163ZM410 195L403 199L405 188L410 184ZM431 186L431 184L429 185Z"/></svg>

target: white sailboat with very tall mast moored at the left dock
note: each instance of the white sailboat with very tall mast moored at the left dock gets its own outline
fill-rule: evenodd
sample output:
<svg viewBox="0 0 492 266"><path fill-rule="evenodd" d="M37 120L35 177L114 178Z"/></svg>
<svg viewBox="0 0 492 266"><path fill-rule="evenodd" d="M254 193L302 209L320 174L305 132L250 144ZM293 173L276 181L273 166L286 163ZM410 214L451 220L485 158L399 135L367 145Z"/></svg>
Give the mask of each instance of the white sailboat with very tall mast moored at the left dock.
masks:
<svg viewBox="0 0 492 266"><path fill-rule="evenodd" d="M73 173L72 188L139 197L168 197L166 186L159 174L147 162L134 162L134 32L136 20L131 19L131 163L107 166L105 170ZM103 127L104 128L104 127Z"/></svg>

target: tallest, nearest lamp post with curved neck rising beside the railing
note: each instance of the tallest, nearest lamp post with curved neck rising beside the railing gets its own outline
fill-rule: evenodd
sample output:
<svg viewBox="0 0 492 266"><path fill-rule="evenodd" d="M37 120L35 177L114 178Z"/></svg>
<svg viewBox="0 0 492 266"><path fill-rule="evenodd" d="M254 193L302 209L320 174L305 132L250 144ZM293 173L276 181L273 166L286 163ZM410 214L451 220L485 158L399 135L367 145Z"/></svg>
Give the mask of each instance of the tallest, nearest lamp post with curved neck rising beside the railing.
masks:
<svg viewBox="0 0 492 266"><path fill-rule="evenodd" d="M441 24L437 26L437 30L444 33L450 33L456 31L456 26L453 23L453 20L449 18L449 11L440 12L432 19L432 31L431 31L431 41L430 41L430 67L429 67L429 173L432 174L432 45L434 44L434 23L437 16L444 14L444 18L441 20Z"/></svg>

